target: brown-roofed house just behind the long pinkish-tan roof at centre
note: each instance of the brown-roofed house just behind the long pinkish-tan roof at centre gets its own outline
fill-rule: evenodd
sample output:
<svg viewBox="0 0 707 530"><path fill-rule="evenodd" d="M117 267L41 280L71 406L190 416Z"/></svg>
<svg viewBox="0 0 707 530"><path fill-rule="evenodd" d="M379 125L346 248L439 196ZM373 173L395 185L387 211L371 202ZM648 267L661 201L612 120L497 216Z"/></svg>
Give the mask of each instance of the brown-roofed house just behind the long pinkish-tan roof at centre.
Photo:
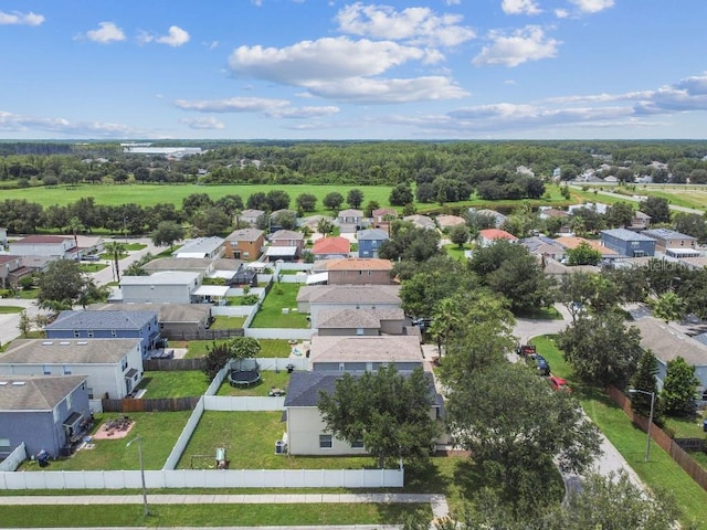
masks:
<svg viewBox="0 0 707 530"><path fill-rule="evenodd" d="M402 309L323 309L318 316L320 337L404 335L410 320Z"/></svg>

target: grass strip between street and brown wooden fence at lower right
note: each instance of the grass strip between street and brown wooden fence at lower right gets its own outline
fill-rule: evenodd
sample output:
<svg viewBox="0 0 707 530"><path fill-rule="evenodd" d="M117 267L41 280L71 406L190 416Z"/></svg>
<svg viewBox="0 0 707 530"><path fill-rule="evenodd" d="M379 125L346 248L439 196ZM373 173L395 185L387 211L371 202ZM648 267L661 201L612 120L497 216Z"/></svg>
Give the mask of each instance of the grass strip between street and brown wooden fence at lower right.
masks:
<svg viewBox="0 0 707 530"><path fill-rule="evenodd" d="M552 337L531 340L552 367L552 373L569 382L584 412L619 449L641 480L654 490L673 494L684 516L680 522L696 521L696 528L707 526L707 491L700 488L657 444L651 446L651 460L644 462L646 435L631 423L623 411L600 389L583 384L562 359Z"/></svg>

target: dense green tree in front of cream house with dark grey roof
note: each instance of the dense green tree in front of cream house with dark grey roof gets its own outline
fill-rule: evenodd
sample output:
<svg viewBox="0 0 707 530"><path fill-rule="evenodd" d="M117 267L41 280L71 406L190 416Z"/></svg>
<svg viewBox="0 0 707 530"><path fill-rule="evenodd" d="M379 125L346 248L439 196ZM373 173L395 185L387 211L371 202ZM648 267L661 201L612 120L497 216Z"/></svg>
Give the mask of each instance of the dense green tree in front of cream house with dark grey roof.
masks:
<svg viewBox="0 0 707 530"><path fill-rule="evenodd" d="M434 385L422 369L403 375L390 365L360 377L345 373L333 394L320 393L318 407L331 434L362 442L384 467L399 458L429 458L439 434L433 404Z"/></svg>

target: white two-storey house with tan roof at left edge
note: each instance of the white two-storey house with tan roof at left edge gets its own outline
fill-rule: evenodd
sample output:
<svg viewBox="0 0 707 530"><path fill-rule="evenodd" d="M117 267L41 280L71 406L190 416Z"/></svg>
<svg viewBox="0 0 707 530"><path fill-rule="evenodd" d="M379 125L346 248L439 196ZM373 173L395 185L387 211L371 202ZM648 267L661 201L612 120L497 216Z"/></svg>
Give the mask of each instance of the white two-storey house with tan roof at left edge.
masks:
<svg viewBox="0 0 707 530"><path fill-rule="evenodd" d="M143 379L139 339L17 339L0 353L7 375L82 375L89 399L123 399Z"/></svg>

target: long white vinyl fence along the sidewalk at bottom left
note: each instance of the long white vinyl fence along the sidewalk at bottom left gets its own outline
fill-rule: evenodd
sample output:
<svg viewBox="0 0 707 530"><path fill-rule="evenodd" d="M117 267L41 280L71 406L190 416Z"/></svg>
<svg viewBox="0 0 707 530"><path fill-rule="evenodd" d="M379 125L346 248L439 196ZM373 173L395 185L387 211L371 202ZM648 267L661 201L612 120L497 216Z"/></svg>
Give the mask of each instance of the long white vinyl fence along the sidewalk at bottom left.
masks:
<svg viewBox="0 0 707 530"><path fill-rule="evenodd" d="M286 458L286 456L283 456ZM403 469L146 470L148 488L401 488ZM139 470L0 473L0 489L138 489Z"/></svg>

